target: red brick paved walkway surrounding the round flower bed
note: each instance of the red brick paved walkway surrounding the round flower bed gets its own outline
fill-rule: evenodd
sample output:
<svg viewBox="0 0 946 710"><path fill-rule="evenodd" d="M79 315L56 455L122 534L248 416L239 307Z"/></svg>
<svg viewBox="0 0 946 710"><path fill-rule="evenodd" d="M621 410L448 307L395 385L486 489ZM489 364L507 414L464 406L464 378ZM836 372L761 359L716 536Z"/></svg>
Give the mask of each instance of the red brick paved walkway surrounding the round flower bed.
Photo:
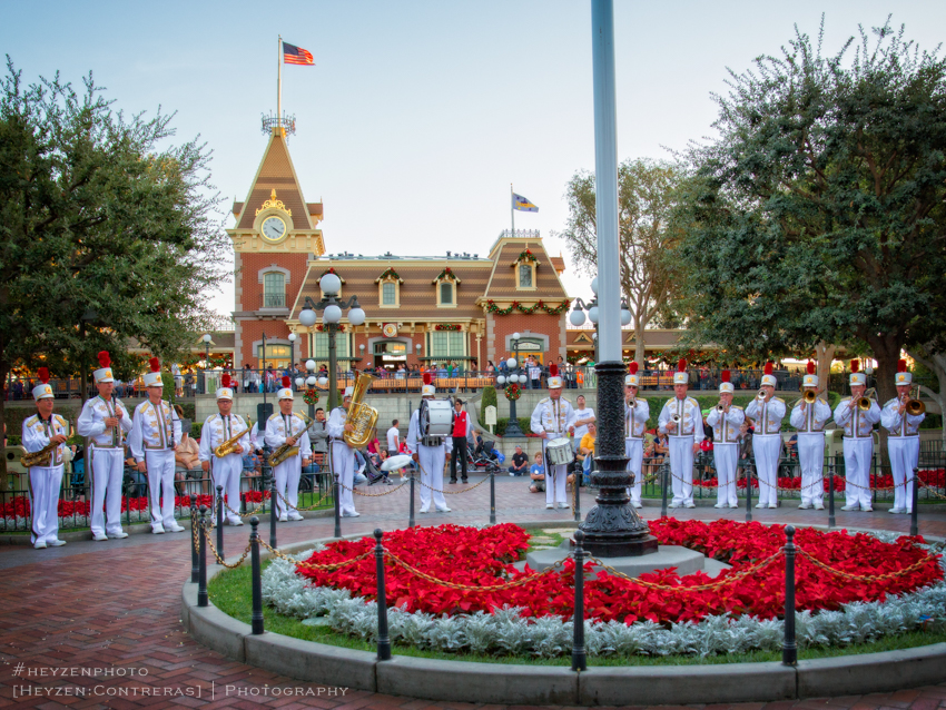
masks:
<svg viewBox="0 0 946 710"><path fill-rule="evenodd" d="M480 480L472 479L471 485ZM496 479L496 516L502 521L570 520L571 511L544 510L544 497L528 492L524 479ZM463 490L464 486L449 486ZM470 486L465 486L470 487ZM377 486L368 492L382 492ZM452 513L417 515L420 524L489 521L489 484L447 496ZM590 499L582 507L588 510ZM343 533L406 525L406 489L382 497L356 499L358 519L343 519ZM753 510L755 520L827 524L827 514ZM647 506L653 520L659 507ZM680 519L743 520L745 511L712 507L674 511ZM837 513L838 526L908 532L905 515ZM287 544L333 533L332 519L279 526ZM246 545L249 527L226 529L229 552ZM946 514L920 519L920 533L946 536ZM180 586L190 574L187 533L131 535L109 542L73 542L56 550L0 548L0 707L42 708L486 708L333 689L294 681L237 663L193 641L179 622ZM85 673L85 674L83 674ZM96 676L96 673L98 676ZM23 697L24 689L28 694ZM85 697L77 697L85 691ZM292 693L292 694L288 694ZM701 707L701 706L693 706ZM728 706L713 706L725 708ZM895 693L732 706L755 710L799 708L946 708L946 682ZM489 706L499 710L500 706Z"/></svg>

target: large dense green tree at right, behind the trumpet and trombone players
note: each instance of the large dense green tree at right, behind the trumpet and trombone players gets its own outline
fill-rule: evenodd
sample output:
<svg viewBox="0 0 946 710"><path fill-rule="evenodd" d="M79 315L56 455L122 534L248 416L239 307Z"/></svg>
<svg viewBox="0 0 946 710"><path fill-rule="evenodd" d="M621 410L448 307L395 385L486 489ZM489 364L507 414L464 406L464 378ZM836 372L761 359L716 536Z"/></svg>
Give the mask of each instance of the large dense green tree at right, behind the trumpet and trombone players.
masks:
<svg viewBox="0 0 946 710"><path fill-rule="evenodd" d="M946 272L946 61L889 22L873 36L822 58L796 28L780 57L730 72L676 218L700 338L869 348L884 401Z"/></svg>

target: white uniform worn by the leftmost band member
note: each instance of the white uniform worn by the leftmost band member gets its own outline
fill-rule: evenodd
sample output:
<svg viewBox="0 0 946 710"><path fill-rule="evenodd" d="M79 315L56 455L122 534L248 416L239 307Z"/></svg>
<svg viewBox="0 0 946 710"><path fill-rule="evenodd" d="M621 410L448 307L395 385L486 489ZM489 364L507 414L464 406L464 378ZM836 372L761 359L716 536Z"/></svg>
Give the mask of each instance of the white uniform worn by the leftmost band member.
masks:
<svg viewBox="0 0 946 710"><path fill-rule="evenodd" d="M69 425L58 414L49 420L40 418L39 414L23 420L22 443L28 453L36 453L49 445L49 440L57 434L69 436ZM59 489L62 485L62 454L66 444L53 448L47 461L48 465L30 466L30 542L56 542L59 538ZM120 501L119 501L120 502Z"/></svg>

